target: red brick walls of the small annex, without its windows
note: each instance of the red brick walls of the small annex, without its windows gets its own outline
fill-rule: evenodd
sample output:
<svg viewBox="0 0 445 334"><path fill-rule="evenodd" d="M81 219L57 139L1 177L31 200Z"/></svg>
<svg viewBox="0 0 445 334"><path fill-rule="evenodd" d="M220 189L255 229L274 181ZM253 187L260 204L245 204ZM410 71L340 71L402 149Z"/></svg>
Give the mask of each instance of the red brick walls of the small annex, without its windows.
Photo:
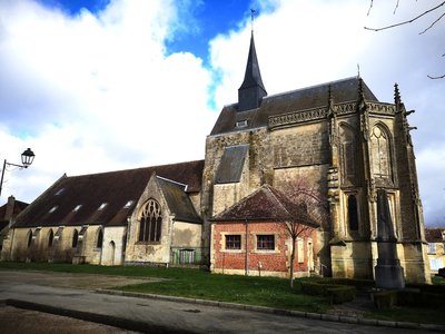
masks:
<svg viewBox="0 0 445 334"><path fill-rule="evenodd" d="M290 238L285 230L283 223L248 223L247 225L247 264L249 272L259 273L259 263L261 263L261 272L277 272L288 273L290 265ZM226 234L240 234L241 235L241 249L228 250L225 249L225 235ZM256 235L258 234L274 234L275 250L257 250L256 249ZM304 242L304 263L298 263L298 247L296 246L296 254L294 261L295 272L307 272L307 237L309 235L301 235ZM288 240L288 242L286 242ZM314 240L315 242L315 240ZM244 223L224 223L214 225L212 236L214 259L212 268L217 271L245 271L246 269L246 224Z"/></svg>

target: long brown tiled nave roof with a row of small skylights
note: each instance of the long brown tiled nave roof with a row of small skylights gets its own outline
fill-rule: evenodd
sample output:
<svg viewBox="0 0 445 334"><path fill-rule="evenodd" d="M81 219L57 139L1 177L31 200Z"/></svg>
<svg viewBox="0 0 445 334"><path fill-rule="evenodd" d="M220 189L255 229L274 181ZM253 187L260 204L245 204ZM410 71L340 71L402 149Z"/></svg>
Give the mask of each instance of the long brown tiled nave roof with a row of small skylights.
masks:
<svg viewBox="0 0 445 334"><path fill-rule="evenodd" d="M204 160L101 174L61 177L16 219L14 227L121 226L132 213L149 178L156 175L199 191Z"/></svg>

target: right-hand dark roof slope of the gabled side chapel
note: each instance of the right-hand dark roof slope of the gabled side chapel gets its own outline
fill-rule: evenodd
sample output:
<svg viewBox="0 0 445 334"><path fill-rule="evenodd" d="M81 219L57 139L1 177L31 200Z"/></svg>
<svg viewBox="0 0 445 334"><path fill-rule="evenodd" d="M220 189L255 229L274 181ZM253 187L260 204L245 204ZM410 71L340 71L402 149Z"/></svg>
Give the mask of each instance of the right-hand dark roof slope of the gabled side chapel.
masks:
<svg viewBox="0 0 445 334"><path fill-rule="evenodd" d="M191 204L190 197L186 193L187 185L159 176L156 178L170 213L175 215L175 220L202 223Z"/></svg>

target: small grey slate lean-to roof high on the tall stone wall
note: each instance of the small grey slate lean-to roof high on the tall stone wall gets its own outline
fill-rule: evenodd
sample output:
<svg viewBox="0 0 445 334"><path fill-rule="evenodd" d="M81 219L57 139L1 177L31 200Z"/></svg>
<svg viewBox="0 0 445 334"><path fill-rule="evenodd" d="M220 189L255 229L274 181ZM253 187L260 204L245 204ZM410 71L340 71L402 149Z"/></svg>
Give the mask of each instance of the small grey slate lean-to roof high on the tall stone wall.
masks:
<svg viewBox="0 0 445 334"><path fill-rule="evenodd" d="M215 183L239 183L243 174L243 166L248 151L248 145L226 147L222 153L221 163L219 164L218 171L215 177Z"/></svg>

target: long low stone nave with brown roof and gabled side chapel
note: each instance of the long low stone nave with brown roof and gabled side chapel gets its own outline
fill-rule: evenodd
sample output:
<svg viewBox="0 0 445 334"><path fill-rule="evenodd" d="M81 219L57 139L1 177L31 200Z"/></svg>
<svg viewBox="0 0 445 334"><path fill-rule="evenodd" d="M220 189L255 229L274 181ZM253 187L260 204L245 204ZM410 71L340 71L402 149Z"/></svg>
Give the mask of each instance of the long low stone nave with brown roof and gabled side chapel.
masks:
<svg viewBox="0 0 445 334"><path fill-rule="evenodd" d="M17 218L1 258L102 265L194 262L200 256L202 166L197 160L65 175Z"/></svg>

